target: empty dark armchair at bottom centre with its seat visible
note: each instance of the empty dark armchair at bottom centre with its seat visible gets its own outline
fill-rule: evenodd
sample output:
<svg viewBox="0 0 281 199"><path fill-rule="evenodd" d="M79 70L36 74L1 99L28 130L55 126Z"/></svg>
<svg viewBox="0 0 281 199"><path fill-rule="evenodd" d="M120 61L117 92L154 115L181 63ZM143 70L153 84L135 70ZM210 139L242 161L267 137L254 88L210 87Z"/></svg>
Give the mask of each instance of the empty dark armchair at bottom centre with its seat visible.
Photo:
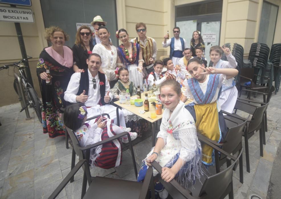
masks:
<svg viewBox="0 0 281 199"><path fill-rule="evenodd" d="M89 188L81 198L148 198L148 189L152 190L151 195L154 199L154 182L152 167L147 169L144 182L134 182L127 180L112 179L107 177L91 177L89 163L86 159L80 160L70 173L64 178L60 185L54 190L49 199L54 199L84 165L84 178L88 181ZM82 191L83 192L83 191Z"/></svg>

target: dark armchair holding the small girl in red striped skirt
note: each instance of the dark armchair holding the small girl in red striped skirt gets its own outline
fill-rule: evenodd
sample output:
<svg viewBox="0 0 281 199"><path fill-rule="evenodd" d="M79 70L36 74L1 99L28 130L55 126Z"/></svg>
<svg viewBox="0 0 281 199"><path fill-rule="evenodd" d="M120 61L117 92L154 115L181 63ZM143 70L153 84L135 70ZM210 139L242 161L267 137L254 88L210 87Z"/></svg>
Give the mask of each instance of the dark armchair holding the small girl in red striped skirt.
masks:
<svg viewBox="0 0 281 199"><path fill-rule="evenodd" d="M103 113L102 116L107 116L109 118L109 115L107 113ZM99 117L100 115L97 115L97 116L94 116L94 117L91 117L91 118L88 118L86 121L89 121L89 120L92 120L92 119L95 119L97 117ZM65 126L66 127L66 126ZM72 143L73 143L73 148L72 148L72 160L71 160L71 169L74 168L74 165L75 165L75 159L76 159L76 155L79 157L79 160L82 160L82 159L86 159L88 162L89 162L89 159L90 159L90 152L91 152L91 149L92 148L95 148L97 146L100 146L100 145L103 145L103 144L106 144L107 142L111 142L115 139L119 139L119 138L122 138L123 136L128 136L128 140L129 140L129 149L131 151L131 156L132 156L132 161L133 161L133 166L134 166L134 170L135 170L135 175L136 175L136 179L137 179L137 166L136 166L136 161L135 161L135 154L134 154L134 151L133 151L133 146L132 146L132 141L131 141L131 136L129 134L129 132L122 132L120 134L117 134L115 136L112 136L111 138L108 138L106 140L102 140L100 142L97 142L95 144L90 144L90 145L87 145L85 147L81 147L79 145L79 142L76 138L76 135L75 135L75 132L73 132L73 130L71 130L70 128L66 127L67 131L68 131L68 134L70 135L70 138L72 140ZM125 145L122 144L122 141L120 142L121 143L121 148L124 148ZM128 146L128 145L126 145ZM85 177L85 173L84 173L84 177ZM74 175L72 177L72 179L70 179L70 182L72 183L74 181ZM82 194L84 193L85 194L85 191L86 191L86 178L83 179L83 186L82 186ZM83 194L83 196L84 196Z"/></svg>

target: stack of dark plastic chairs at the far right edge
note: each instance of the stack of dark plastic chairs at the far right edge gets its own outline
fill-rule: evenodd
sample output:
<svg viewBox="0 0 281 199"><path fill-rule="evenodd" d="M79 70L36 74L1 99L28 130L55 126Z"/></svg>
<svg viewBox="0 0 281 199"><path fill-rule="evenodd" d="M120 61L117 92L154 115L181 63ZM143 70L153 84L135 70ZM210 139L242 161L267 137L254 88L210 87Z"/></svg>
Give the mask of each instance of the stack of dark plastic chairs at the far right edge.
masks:
<svg viewBox="0 0 281 199"><path fill-rule="evenodd" d="M274 67L274 86L276 88L276 94L281 81L281 43L276 43L271 46L269 61Z"/></svg>

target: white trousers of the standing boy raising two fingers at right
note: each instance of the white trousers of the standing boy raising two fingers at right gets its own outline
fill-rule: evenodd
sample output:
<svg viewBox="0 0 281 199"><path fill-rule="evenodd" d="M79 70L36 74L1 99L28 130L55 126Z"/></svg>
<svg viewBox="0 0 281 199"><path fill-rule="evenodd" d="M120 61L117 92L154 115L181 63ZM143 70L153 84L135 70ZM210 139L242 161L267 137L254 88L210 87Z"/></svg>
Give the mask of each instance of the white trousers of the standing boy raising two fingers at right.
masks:
<svg viewBox="0 0 281 199"><path fill-rule="evenodd" d="M219 96L221 110L232 113L238 96L238 90L235 86L229 88Z"/></svg>

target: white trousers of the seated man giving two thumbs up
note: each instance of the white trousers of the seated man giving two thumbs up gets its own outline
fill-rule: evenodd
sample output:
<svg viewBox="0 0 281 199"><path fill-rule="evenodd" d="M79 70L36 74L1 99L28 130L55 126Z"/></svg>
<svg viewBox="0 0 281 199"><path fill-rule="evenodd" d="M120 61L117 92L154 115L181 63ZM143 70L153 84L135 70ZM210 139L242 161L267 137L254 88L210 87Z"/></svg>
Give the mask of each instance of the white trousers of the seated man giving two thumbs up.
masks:
<svg viewBox="0 0 281 199"><path fill-rule="evenodd" d="M91 108L87 108L87 118L99 115L101 113L107 113L110 116L110 119L113 119L114 124L117 125L117 115L116 115L116 107L113 105L106 104L104 106L95 105ZM89 122L89 125L93 125L95 120ZM125 118L123 111L119 109L119 123L121 127L126 127Z"/></svg>

